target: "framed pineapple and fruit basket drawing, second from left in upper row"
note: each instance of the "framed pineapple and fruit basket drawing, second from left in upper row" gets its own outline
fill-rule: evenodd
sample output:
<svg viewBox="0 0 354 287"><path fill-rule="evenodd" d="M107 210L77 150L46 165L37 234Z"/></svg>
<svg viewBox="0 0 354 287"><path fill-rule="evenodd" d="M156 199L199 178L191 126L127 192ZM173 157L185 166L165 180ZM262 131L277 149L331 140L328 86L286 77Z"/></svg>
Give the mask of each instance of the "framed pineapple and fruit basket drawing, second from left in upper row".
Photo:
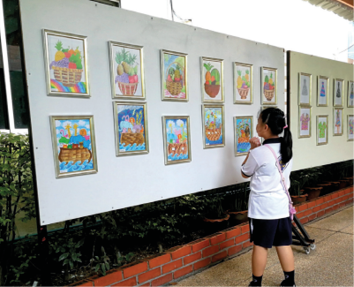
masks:
<svg viewBox="0 0 354 287"><path fill-rule="evenodd" d="M112 98L145 99L143 47L109 42Z"/></svg>

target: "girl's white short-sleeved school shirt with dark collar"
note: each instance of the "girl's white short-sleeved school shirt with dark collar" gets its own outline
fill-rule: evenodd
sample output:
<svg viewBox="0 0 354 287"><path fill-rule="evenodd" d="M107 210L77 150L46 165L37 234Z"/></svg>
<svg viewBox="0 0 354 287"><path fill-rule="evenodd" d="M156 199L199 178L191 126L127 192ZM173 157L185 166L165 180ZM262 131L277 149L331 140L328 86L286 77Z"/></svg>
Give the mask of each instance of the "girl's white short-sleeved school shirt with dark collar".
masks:
<svg viewBox="0 0 354 287"><path fill-rule="evenodd" d="M268 139L278 159L280 155L280 138ZM286 165L281 164L282 172L288 188L290 188L290 172L293 160ZM289 217L289 199L277 168L273 153L266 146L250 150L247 162L242 165L244 175L251 177L250 196L248 200L248 217L255 219L280 219Z"/></svg>

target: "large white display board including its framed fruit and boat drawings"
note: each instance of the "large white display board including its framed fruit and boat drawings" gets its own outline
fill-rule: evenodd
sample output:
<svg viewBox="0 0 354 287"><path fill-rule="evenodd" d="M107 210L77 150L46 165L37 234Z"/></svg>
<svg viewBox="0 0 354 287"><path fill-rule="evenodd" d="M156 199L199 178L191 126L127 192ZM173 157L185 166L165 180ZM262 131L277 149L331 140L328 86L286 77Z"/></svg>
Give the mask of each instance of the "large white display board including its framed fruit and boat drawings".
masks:
<svg viewBox="0 0 354 287"><path fill-rule="evenodd" d="M283 49L87 0L20 9L42 225L244 181L235 117L255 131L263 90L284 107Z"/></svg>

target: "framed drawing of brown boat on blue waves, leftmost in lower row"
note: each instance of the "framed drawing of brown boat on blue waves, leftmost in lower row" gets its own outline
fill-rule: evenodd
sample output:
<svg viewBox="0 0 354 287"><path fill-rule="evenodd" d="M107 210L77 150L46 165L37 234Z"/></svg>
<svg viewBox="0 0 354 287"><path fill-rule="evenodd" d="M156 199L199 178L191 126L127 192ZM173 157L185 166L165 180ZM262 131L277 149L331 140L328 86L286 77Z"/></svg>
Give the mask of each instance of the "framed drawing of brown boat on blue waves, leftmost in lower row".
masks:
<svg viewBox="0 0 354 287"><path fill-rule="evenodd" d="M93 116L50 116L56 178L97 172Z"/></svg>

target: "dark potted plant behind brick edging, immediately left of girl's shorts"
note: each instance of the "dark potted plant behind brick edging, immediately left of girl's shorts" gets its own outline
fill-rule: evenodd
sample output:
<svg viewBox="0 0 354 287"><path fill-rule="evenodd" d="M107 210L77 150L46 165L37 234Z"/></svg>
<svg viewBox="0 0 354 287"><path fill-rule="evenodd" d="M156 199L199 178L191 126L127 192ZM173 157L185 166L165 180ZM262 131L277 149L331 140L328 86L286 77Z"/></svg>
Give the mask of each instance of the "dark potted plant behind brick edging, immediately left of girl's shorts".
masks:
<svg viewBox="0 0 354 287"><path fill-rule="evenodd" d="M248 220L249 182L242 183L232 191L231 208L226 212L230 215L231 224L237 225Z"/></svg>

